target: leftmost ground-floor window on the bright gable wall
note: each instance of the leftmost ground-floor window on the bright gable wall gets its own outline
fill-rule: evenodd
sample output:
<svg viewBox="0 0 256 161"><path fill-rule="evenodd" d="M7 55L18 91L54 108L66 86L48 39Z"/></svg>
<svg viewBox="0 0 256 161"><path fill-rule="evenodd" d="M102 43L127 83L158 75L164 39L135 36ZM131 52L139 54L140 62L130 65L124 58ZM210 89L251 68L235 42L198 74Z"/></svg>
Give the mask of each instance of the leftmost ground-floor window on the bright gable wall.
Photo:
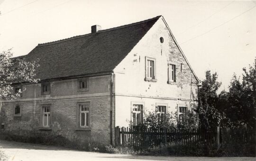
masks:
<svg viewBox="0 0 256 161"><path fill-rule="evenodd" d="M133 104L132 118L134 126L143 123L143 105Z"/></svg>

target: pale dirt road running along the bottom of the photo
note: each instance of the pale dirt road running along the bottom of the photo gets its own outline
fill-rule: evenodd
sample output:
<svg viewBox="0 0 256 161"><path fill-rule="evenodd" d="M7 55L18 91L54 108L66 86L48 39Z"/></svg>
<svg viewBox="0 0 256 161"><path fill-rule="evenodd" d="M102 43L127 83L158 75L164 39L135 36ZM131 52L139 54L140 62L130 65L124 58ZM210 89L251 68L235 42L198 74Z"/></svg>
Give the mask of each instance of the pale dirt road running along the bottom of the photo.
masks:
<svg viewBox="0 0 256 161"><path fill-rule="evenodd" d="M250 157L165 157L82 152L63 147L0 140L9 161L256 161Z"/></svg>

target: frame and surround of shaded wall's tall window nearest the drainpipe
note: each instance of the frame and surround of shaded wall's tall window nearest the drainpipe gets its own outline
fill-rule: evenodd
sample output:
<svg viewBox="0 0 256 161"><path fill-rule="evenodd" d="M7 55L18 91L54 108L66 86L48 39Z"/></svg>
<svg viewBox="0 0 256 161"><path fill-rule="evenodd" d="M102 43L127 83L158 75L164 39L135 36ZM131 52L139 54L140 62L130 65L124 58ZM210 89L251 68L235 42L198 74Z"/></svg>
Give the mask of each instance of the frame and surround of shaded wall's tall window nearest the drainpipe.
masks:
<svg viewBox="0 0 256 161"><path fill-rule="evenodd" d="M86 126L86 114L85 114L85 122L84 126L81 126L81 105L86 105L89 108L88 112L82 112L82 113L88 113L88 126ZM91 130L91 102L86 101L86 102L77 102L76 106L76 130Z"/></svg>

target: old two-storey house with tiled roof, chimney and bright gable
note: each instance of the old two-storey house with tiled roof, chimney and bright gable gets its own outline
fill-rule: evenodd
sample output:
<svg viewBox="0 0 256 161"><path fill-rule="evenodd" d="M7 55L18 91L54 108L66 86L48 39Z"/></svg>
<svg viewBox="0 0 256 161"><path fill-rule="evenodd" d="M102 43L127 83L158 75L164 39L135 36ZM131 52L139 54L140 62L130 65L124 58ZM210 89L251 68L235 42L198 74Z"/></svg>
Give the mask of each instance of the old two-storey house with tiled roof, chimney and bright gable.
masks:
<svg viewBox="0 0 256 161"><path fill-rule="evenodd" d="M199 79L163 16L38 44L37 84L1 100L0 132L113 143L115 126L137 125L147 111L179 116L197 104ZM26 90L25 90L26 89ZM15 91L13 91L15 92Z"/></svg>

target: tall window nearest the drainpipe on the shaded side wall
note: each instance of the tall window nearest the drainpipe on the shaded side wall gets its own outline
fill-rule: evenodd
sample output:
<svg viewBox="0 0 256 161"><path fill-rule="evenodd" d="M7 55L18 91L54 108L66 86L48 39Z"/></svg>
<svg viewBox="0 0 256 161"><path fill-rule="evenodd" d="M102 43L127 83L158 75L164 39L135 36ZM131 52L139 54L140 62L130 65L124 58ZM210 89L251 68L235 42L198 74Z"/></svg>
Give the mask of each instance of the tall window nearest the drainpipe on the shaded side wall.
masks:
<svg viewBox="0 0 256 161"><path fill-rule="evenodd" d="M80 104L79 105L79 115L80 115L80 127L89 127L90 125L90 106L89 104Z"/></svg>

